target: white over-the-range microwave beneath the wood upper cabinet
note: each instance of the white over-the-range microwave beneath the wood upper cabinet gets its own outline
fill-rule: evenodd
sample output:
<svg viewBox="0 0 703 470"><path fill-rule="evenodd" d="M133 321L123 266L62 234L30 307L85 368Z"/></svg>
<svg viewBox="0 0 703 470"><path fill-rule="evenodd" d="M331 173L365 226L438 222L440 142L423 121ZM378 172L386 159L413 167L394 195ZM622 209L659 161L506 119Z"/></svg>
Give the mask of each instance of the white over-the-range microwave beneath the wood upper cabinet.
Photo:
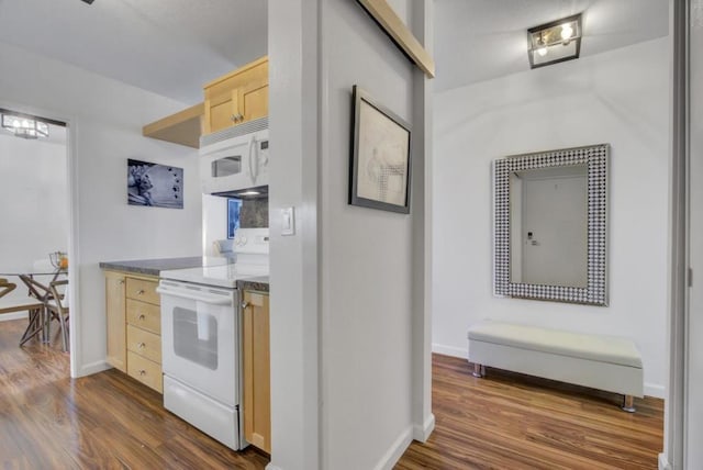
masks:
<svg viewBox="0 0 703 470"><path fill-rule="evenodd" d="M207 194L268 186L268 118L202 136L200 178Z"/></svg>

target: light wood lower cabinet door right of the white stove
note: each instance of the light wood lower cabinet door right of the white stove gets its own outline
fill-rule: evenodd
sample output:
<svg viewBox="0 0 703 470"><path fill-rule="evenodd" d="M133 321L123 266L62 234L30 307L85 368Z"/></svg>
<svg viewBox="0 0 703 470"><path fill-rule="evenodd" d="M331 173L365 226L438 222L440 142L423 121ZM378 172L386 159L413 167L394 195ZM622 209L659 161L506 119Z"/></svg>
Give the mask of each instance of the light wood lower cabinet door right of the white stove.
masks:
<svg viewBox="0 0 703 470"><path fill-rule="evenodd" d="M244 292L244 437L271 451L268 295Z"/></svg>

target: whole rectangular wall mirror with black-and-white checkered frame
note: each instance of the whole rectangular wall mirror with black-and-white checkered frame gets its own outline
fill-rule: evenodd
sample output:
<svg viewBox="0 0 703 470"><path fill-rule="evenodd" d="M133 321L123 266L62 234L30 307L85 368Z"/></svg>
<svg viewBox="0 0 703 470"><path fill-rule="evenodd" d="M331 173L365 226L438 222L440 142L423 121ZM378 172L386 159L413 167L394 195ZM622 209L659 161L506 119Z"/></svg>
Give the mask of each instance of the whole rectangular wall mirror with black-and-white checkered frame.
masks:
<svg viewBox="0 0 703 470"><path fill-rule="evenodd" d="M493 292L607 305L607 144L493 164Z"/></svg>

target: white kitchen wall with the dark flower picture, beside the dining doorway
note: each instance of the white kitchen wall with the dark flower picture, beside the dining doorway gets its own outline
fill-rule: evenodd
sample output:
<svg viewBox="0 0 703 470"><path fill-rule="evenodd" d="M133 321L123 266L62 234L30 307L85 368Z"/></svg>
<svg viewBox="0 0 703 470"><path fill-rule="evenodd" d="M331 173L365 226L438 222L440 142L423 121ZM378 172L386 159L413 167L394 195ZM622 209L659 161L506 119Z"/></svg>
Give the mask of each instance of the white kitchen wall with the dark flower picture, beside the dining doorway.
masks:
<svg viewBox="0 0 703 470"><path fill-rule="evenodd" d="M142 126L185 105L51 58L0 44L0 105L69 122L72 201L72 374L102 369L105 358L102 260L201 253L201 192L192 148L142 136ZM126 203L126 159L185 169L185 209ZM76 299L76 296L74 296ZM76 318L78 317L78 318ZM75 347L74 347L75 346Z"/></svg>

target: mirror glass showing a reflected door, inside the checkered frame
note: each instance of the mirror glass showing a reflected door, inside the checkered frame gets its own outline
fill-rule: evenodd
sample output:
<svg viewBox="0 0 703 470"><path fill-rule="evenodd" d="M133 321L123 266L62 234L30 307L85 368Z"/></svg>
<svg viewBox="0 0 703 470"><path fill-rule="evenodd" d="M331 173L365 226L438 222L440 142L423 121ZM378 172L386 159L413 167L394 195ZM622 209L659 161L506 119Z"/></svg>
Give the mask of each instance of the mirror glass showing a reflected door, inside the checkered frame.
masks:
<svg viewBox="0 0 703 470"><path fill-rule="evenodd" d="M588 287L588 166L510 174L510 281Z"/></svg>

